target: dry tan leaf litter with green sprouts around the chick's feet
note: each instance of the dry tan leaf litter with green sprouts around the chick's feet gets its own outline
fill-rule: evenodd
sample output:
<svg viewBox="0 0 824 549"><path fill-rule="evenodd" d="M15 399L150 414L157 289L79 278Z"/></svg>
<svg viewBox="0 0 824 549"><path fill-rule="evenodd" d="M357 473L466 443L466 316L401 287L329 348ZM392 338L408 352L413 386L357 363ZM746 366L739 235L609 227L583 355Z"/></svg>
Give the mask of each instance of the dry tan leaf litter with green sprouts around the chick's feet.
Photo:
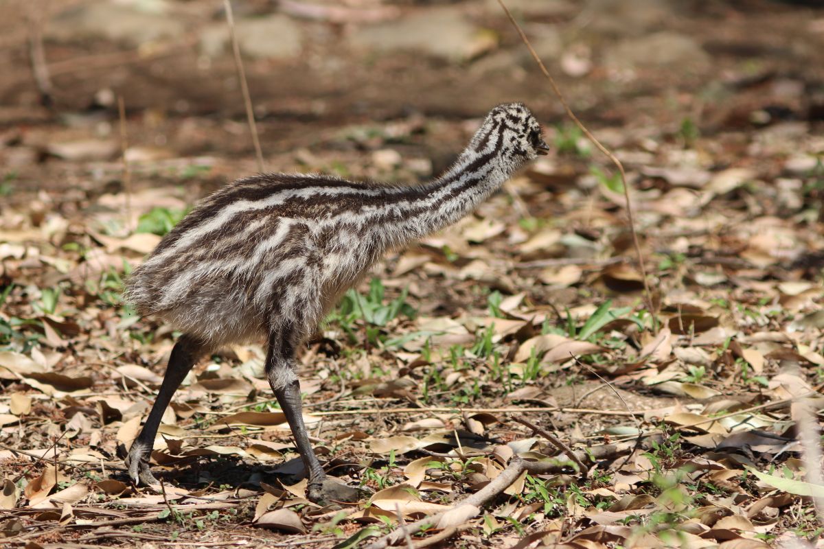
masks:
<svg viewBox="0 0 824 549"><path fill-rule="evenodd" d="M0 225L0 536L358 547L437 514L410 532L414 547L439 535L462 547L817 547L824 494L809 473L821 463L805 461L797 406L824 407L824 142L808 123L788 148L781 126L687 143L635 122L612 144L637 188L654 310L622 189L562 125L557 150L511 182L527 215L501 193L386 258L301 357L318 452L363 486L345 509L306 499L259 345L195 367L155 441L162 486L130 486L118 447L138 434L175 334L132 314L123 278L210 171L222 182L241 165L164 151L144 162L126 216L124 193L97 192L89 175L116 174L100 164L116 149L91 134L49 144L46 162L74 170L80 194L16 189L26 199ZM359 176L414 171L364 158L348 159ZM196 168L197 193L152 179L171 162ZM521 462L541 472L456 505Z"/></svg>

